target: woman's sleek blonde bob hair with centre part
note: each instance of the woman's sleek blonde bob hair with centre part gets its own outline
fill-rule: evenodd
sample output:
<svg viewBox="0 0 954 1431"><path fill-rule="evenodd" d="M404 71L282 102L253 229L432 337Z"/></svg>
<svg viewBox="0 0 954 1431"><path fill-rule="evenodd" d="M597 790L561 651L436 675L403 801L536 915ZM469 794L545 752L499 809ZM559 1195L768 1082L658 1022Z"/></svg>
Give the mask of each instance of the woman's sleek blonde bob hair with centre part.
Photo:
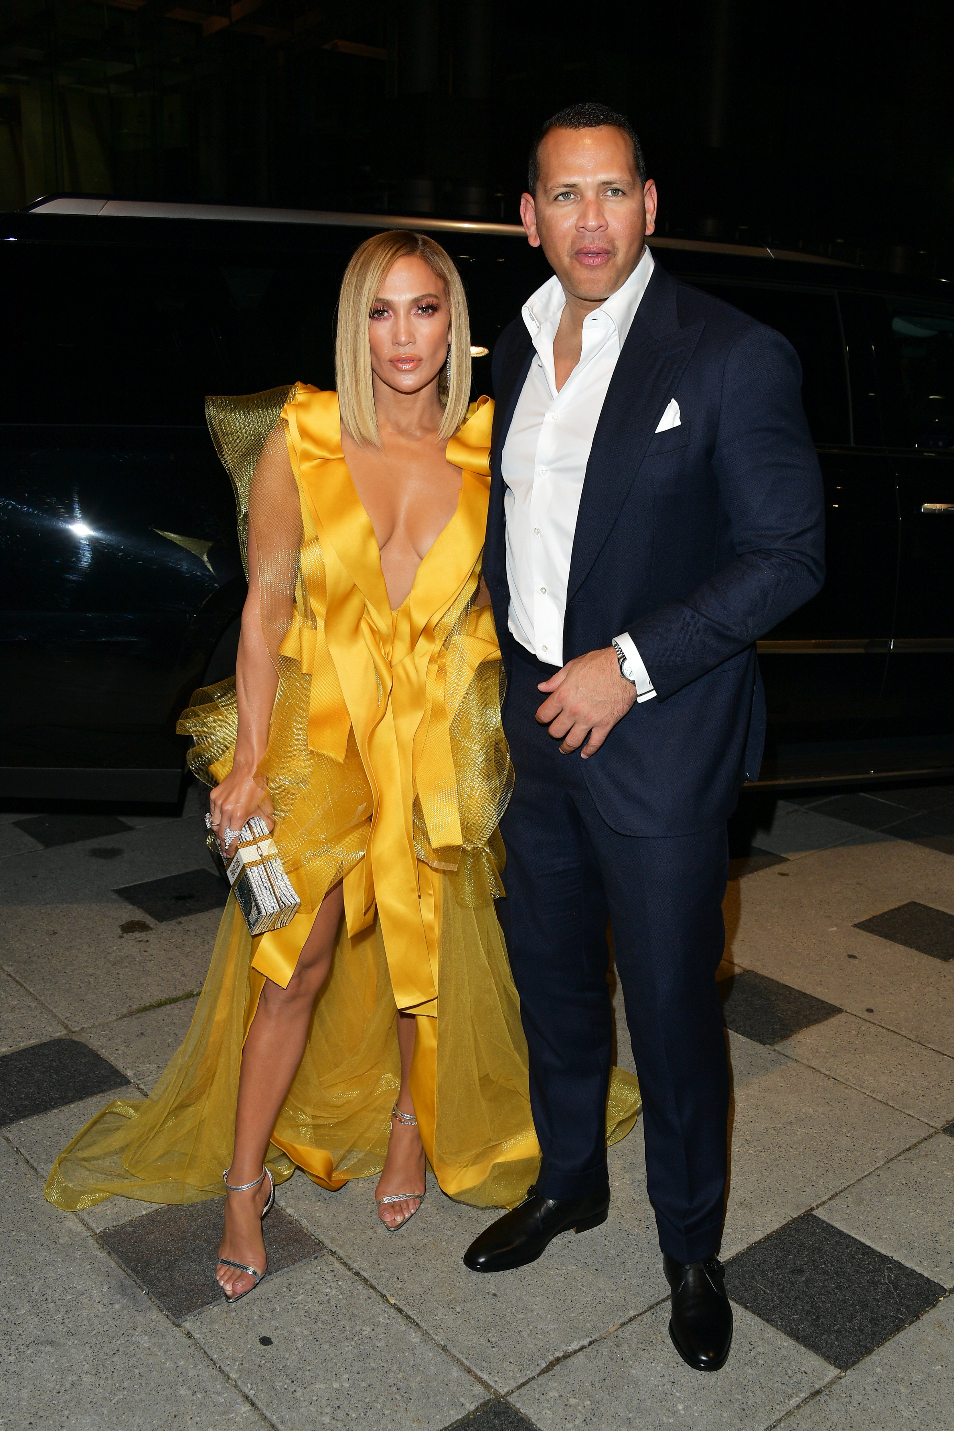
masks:
<svg viewBox="0 0 954 1431"><path fill-rule="evenodd" d="M439 243L423 233L392 229L375 233L355 250L345 269L338 301L335 339L335 378L338 404L345 426L356 442L380 446L375 391L370 378L368 323L370 309L392 263L403 258L423 259L442 279L451 309L451 382L446 371L439 379L443 421L438 438L446 442L463 422L471 401L471 322L463 283L453 260Z"/></svg>

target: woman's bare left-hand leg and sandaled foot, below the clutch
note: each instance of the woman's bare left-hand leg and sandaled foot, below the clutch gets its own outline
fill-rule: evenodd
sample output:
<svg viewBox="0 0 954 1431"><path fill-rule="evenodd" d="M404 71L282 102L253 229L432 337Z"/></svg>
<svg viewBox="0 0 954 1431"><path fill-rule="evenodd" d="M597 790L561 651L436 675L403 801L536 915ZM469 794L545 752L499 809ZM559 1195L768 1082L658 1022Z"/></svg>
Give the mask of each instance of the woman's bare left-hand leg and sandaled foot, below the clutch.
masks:
<svg viewBox="0 0 954 1431"><path fill-rule="evenodd" d="M229 1169L232 1183L255 1182L262 1172L275 1119L302 1062L315 999L328 979L343 907L342 886L336 884L322 900L287 989L265 980L242 1050L235 1152ZM220 1256L265 1272L260 1219L267 1196L267 1178L249 1192L226 1193ZM226 1296L240 1296L255 1281L247 1272L222 1264L216 1268L216 1278Z"/></svg>

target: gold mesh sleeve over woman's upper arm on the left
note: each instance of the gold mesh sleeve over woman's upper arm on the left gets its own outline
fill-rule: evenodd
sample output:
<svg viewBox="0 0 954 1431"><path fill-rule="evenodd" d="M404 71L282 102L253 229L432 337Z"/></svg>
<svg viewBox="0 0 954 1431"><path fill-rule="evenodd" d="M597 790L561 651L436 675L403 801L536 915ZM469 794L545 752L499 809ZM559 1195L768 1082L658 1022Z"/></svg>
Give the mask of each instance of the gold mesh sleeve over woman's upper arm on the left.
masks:
<svg viewBox="0 0 954 1431"><path fill-rule="evenodd" d="M302 547L302 507L282 421L293 392L295 385L246 398L206 398L209 432L235 488L246 575L249 527L255 534L262 631L279 673L279 647L292 622Z"/></svg>

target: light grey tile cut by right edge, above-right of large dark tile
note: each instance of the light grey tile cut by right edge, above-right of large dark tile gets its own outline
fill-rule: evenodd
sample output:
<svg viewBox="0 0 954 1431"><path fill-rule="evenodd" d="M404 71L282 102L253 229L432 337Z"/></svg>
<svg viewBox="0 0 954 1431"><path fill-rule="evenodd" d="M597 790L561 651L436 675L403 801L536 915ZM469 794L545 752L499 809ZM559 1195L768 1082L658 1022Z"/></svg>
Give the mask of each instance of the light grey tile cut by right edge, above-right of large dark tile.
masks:
<svg viewBox="0 0 954 1431"><path fill-rule="evenodd" d="M954 1286L954 1138L937 1133L847 1188L817 1215Z"/></svg>

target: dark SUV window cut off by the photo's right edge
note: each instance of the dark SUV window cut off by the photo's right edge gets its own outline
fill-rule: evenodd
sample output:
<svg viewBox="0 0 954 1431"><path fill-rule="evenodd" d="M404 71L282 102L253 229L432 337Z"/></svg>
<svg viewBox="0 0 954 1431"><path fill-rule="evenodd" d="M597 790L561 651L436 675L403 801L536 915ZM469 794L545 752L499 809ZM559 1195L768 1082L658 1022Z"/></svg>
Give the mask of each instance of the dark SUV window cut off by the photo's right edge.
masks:
<svg viewBox="0 0 954 1431"><path fill-rule="evenodd" d="M954 451L954 306L888 299L910 445Z"/></svg>

